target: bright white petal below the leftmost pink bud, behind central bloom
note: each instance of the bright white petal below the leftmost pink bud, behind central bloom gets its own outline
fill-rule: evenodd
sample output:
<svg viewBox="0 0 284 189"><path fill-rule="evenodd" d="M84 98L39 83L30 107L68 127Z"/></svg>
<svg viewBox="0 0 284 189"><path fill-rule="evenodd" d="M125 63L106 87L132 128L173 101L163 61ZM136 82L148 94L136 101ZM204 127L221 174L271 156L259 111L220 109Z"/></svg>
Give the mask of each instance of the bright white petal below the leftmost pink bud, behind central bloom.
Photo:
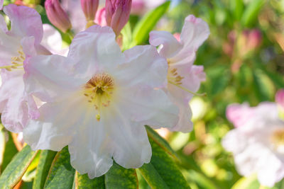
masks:
<svg viewBox="0 0 284 189"><path fill-rule="evenodd" d="M58 30L52 25L43 24L43 40L40 43L50 52L57 54L62 49L62 38Z"/></svg>

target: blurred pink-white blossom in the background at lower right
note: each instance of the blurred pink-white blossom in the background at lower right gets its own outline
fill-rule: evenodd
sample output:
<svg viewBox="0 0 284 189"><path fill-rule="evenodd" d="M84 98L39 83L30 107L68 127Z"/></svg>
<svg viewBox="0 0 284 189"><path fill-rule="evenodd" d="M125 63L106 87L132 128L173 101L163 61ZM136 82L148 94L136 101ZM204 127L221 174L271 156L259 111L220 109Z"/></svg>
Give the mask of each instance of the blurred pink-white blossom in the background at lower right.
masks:
<svg viewBox="0 0 284 189"><path fill-rule="evenodd" d="M269 187L284 178L284 122L276 103L230 105L227 118L236 129L226 134L222 145L233 153L238 172L256 173L261 185Z"/></svg>

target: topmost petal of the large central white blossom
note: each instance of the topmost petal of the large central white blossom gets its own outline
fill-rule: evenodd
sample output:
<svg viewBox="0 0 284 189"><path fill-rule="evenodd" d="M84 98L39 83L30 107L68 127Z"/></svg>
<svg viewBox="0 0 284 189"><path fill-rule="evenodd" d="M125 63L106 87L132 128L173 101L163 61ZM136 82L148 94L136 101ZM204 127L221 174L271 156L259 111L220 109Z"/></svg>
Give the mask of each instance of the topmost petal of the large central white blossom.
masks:
<svg viewBox="0 0 284 189"><path fill-rule="evenodd" d="M76 68L82 70L86 78L91 78L96 72L113 70L125 62L113 30L99 25L93 25L75 36L68 57L78 62Z"/></svg>

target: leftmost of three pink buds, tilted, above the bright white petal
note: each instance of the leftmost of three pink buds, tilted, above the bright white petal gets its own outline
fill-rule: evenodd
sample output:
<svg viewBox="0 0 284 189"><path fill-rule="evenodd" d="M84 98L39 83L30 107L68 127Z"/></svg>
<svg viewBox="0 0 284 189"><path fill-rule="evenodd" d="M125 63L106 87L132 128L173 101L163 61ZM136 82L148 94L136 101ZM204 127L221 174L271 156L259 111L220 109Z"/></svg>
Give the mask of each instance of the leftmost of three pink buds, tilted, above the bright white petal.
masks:
<svg viewBox="0 0 284 189"><path fill-rule="evenodd" d="M72 28L67 13L62 9L58 0L46 0L45 10L49 21L62 32L66 33Z"/></svg>

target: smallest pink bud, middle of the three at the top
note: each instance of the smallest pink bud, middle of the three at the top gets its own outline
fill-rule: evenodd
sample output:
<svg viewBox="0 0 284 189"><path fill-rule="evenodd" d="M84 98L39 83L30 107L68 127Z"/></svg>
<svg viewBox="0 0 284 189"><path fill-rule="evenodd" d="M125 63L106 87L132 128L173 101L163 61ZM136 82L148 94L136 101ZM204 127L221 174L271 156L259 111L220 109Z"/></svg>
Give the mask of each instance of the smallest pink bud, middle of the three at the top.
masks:
<svg viewBox="0 0 284 189"><path fill-rule="evenodd" d="M99 0L81 0L81 6L87 21L94 21L99 6Z"/></svg>

